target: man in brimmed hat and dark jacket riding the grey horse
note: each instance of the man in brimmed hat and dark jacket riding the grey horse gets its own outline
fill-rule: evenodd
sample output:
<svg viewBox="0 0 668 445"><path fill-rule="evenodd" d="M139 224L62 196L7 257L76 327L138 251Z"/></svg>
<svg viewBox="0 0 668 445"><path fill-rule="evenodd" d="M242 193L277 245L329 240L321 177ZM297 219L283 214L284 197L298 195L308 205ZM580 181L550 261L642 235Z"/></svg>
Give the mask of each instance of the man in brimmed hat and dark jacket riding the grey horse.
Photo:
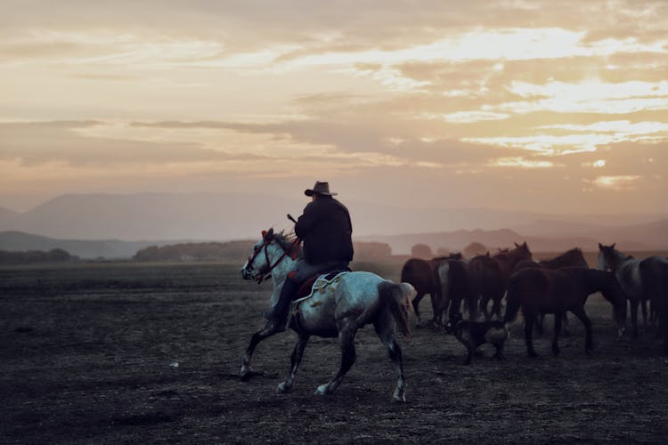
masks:
<svg viewBox="0 0 668 445"><path fill-rule="evenodd" d="M265 315L276 330L285 330L290 302L297 296L301 284L315 274L349 270L353 260L353 225L346 206L330 192L329 182L315 182L313 189L304 191L311 197L297 219L295 234L304 241L304 257L297 261L281 288L278 302Z"/></svg>

